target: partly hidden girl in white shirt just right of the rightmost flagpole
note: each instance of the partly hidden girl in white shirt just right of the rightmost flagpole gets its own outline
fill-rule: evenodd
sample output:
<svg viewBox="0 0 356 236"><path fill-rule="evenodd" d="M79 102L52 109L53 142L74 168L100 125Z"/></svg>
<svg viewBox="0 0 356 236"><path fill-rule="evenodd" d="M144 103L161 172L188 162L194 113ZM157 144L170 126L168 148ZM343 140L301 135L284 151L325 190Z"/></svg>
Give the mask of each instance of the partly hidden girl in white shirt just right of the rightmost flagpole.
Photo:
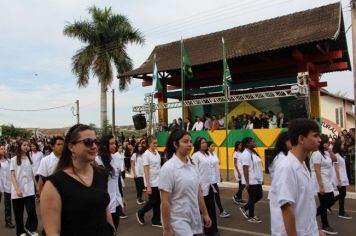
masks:
<svg viewBox="0 0 356 236"><path fill-rule="evenodd" d="M236 203L237 205L244 204L246 203L244 200L242 200L242 192L245 189L245 177L243 175L243 169L242 169L242 143L240 141L237 141L235 143L235 150L234 153L232 154L233 161L234 161L234 176L236 181L239 183L239 188L237 189L237 192L234 196L232 196L232 201ZM242 183L243 182L243 183Z"/></svg>

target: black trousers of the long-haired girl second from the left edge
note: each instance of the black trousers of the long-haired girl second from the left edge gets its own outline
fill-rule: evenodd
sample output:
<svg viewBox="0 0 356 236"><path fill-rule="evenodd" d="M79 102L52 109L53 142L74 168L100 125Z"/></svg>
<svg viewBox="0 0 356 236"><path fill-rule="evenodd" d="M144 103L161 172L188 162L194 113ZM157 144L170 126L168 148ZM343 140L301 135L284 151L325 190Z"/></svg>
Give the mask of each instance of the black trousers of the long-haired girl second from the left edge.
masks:
<svg viewBox="0 0 356 236"><path fill-rule="evenodd" d="M35 196L28 196L18 199L12 199L12 207L15 215L15 223L16 223L16 235L25 233L24 227L29 231L36 231L38 220L36 214L36 203ZM26 225L23 223L23 212L24 208L26 208L27 212L27 220Z"/></svg>

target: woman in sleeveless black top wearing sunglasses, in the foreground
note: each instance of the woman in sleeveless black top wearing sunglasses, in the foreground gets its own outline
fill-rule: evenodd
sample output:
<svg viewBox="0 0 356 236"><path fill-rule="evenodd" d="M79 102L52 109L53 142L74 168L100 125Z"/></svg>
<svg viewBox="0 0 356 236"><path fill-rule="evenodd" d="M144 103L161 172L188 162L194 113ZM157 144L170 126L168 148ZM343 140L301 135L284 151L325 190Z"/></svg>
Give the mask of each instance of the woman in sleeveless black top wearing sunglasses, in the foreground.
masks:
<svg viewBox="0 0 356 236"><path fill-rule="evenodd" d="M95 132L87 125L71 127L57 169L41 194L47 235L113 235L107 175L92 163L98 153Z"/></svg>

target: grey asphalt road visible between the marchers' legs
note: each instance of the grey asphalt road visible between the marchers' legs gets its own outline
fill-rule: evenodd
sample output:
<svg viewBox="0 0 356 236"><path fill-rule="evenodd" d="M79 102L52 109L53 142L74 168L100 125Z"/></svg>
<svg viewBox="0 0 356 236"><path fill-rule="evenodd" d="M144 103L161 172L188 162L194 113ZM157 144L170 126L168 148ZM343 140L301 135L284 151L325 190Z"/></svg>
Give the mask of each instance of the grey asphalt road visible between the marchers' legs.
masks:
<svg viewBox="0 0 356 236"><path fill-rule="evenodd" d="M145 216L146 224L141 226L137 223L135 212L139 207L135 203L136 191L134 188L134 183L132 179L125 180L126 187L124 189L125 199L128 203L128 207L125 209L125 213L128 215L127 219L122 219L119 226L120 236L155 236L162 235L162 230L159 228L152 227L149 222L151 218L151 212L147 213ZM218 225L220 229L221 236L247 236L247 235L269 235L270 234L270 215L267 192L264 192L263 199L256 205L256 215L262 219L262 223L249 223L247 222L242 214L240 213L238 206L232 202L232 195L234 193L233 189L221 188L221 201L223 207L231 214L230 218L219 218ZM145 196L146 197L146 196ZM244 198L247 198L247 194L244 192ZM356 200L346 199L346 210L353 217L352 220L344 220L337 217L338 205L336 204L332 210L333 213L328 216L329 223L338 232L339 235L353 236L356 235L355 223L356 223ZM3 216L3 203L0 206L0 235L1 236L12 236L15 235L15 230L6 229L4 227L4 216ZM39 215L39 211L37 211ZM39 216L40 218L40 216ZM318 217L318 222L320 223L320 217ZM41 227L41 223L40 226Z"/></svg>

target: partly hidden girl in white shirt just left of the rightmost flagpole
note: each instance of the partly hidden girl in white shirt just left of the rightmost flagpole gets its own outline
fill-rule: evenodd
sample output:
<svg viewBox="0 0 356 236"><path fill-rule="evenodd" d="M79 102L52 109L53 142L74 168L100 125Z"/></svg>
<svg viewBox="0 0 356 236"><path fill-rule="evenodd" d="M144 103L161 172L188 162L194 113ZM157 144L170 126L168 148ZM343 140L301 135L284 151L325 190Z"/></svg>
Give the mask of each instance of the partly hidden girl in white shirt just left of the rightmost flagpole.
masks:
<svg viewBox="0 0 356 236"><path fill-rule="evenodd" d="M216 192L214 192L215 195L215 202L216 205L219 208L220 211L220 217L221 218L228 218L230 217L230 214L227 213L224 208L221 205L221 199L220 199L220 190L218 187L218 183L221 181L221 174L220 174L220 160L218 156L215 154L215 145L213 142L208 142L208 152L211 157L211 171L212 171L212 176L211 176L211 182L213 183L214 189Z"/></svg>

